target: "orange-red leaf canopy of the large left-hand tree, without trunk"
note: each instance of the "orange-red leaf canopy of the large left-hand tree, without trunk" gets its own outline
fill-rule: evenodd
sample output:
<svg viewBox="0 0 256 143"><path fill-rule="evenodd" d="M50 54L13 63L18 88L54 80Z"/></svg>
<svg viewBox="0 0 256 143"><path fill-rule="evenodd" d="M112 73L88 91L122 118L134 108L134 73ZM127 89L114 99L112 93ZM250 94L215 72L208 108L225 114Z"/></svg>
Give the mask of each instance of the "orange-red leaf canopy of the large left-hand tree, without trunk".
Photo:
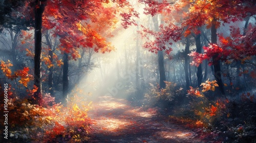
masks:
<svg viewBox="0 0 256 143"><path fill-rule="evenodd" d="M33 6L33 5L31 5ZM79 58L77 49L93 48L95 52L110 52L113 46L104 37L110 37L119 14L122 25L137 25L138 13L127 1L48 1L43 17L43 30L51 30L59 37L62 53Z"/></svg>

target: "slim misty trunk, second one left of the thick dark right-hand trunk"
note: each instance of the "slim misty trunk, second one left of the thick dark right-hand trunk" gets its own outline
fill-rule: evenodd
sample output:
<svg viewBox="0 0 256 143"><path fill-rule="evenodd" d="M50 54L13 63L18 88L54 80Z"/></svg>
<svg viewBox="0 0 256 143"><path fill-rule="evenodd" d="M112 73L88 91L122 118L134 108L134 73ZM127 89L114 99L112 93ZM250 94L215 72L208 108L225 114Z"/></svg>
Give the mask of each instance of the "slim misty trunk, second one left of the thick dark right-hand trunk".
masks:
<svg viewBox="0 0 256 143"><path fill-rule="evenodd" d="M186 79L186 90L189 89L189 77L188 77L188 62L189 62L189 46L190 42L189 39L186 38L186 45L185 45L185 52L184 52L184 70L185 70L185 79Z"/></svg>

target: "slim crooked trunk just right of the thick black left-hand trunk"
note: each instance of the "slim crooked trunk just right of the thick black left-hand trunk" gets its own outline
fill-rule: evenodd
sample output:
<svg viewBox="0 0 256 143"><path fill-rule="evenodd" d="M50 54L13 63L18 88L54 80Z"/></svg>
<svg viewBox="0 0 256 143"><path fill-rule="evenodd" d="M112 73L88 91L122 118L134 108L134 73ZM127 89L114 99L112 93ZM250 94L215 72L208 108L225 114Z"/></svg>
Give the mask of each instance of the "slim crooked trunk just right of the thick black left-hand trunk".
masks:
<svg viewBox="0 0 256 143"><path fill-rule="evenodd" d="M53 49L52 49L52 42L51 42L51 39L50 39L50 31L48 30L46 32L46 42L47 42L47 45L49 47L49 59L51 61L51 63L53 64ZM48 89L49 89L49 92L50 94L52 95L53 94L53 66L50 66L49 68L49 73L48 73Z"/></svg>

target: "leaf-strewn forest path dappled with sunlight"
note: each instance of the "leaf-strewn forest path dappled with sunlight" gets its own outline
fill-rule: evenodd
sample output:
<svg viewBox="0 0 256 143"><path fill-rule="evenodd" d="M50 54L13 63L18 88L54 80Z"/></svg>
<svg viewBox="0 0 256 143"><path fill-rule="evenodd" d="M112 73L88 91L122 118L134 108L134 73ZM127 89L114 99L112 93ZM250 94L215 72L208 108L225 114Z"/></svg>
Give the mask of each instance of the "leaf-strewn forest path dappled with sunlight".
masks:
<svg viewBox="0 0 256 143"><path fill-rule="evenodd" d="M167 121L156 109L143 111L124 99L100 97L89 116L93 137L90 142L202 142L196 133Z"/></svg>

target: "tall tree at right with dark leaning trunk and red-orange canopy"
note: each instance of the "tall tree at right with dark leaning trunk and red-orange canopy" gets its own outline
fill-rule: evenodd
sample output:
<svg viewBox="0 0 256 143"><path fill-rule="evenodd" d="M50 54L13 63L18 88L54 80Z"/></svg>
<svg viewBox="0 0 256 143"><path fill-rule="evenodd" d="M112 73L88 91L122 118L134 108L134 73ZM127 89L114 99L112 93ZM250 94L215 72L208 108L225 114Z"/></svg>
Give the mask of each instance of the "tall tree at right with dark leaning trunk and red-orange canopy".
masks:
<svg viewBox="0 0 256 143"><path fill-rule="evenodd" d="M170 4L167 1L163 1L161 3L156 1L150 1L150 0L141 0L140 2L146 4L145 13L155 15L158 13L164 13L167 15L167 17L172 18L165 18L165 25L161 28L161 34L162 36L159 37L155 34L157 40L155 43L165 43L170 40L177 40L177 37L180 33L179 26L181 29L184 29L184 36L188 36L191 33L200 34L200 31L198 30L198 27L206 26L208 29L211 29L212 35L212 43L209 45L209 47L205 47L206 57L208 59L212 58L213 62L210 62L210 64L214 64L215 66L215 72L214 76L216 77L216 80L219 84L219 90L222 94L224 94L223 89L223 82L221 79L221 69L220 69L220 54L222 48L220 48L217 43L217 29L221 26L222 23L230 23L230 22L236 22L239 20L243 20L244 17L249 15L253 15L255 13L255 1L247 0L247 1L240 1L240 0L234 0L232 3L230 1L177 1L175 5L170 6ZM173 12L175 10L175 12ZM243 12L241 12L243 11ZM179 17L177 17L176 13L181 13ZM181 18L180 18L181 17ZM173 21L175 19L175 22ZM174 26L172 23L176 23ZM168 32L166 32L168 29ZM144 30L145 31L145 30ZM148 32L153 34L152 31ZM168 36L164 33L168 33ZM159 34L160 35L160 34ZM174 35L177 35L175 37ZM178 38L179 39L179 38ZM251 47L251 46L250 46ZM169 48L169 47L168 47ZM166 47L162 47L160 50L165 50ZM251 48L249 48L251 49ZM246 50L248 51L248 50ZM218 54L219 53L219 54ZM197 56L200 55L200 56ZM191 56L196 56L192 64L195 63L202 63L204 55L201 54L195 54L194 52L191 54ZM226 55L225 55L226 56ZM201 60L199 60L201 57ZM210 58L209 58L210 57ZM207 59L205 58L205 59ZM199 62L198 62L199 61ZM197 66L199 64L196 64Z"/></svg>

